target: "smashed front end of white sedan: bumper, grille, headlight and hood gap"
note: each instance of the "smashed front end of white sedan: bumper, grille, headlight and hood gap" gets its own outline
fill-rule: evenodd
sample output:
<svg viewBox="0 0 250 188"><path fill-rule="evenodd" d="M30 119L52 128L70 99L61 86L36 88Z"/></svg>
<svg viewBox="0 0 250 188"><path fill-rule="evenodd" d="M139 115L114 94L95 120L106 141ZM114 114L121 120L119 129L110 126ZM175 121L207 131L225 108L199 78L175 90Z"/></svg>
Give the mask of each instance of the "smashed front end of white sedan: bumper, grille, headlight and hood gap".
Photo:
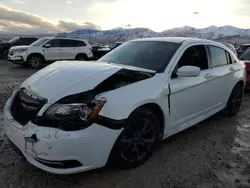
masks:
<svg viewBox="0 0 250 188"><path fill-rule="evenodd" d="M99 115L108 102L102 94L153 76L120 69L93 89L50 106L49 99L23 87L6 103L6 134L31 164L45 171L68 174L102 167L126 121Z"/></svg>

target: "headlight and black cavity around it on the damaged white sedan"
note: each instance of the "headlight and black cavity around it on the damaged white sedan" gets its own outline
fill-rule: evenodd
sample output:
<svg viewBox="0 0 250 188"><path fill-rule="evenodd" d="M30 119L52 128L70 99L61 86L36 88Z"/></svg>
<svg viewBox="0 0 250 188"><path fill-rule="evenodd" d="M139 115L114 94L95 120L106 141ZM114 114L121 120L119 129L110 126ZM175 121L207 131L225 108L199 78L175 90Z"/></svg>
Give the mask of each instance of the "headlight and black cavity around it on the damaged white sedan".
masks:
<svg viewBox="0 0 250 188"><path fill-rule="evenodd" d="M105 98L89 103L56 103L34 123L67 131L84 129L93 123L105 103Z"/></svg>

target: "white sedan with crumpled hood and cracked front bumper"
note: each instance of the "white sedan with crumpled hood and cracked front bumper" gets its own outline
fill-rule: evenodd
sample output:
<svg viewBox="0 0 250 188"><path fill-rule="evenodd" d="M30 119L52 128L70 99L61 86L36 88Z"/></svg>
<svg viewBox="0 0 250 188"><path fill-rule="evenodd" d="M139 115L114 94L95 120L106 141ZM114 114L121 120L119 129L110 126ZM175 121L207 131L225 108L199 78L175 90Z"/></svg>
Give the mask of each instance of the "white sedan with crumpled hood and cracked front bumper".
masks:
<svg viewBox="0 0 250 188"><path fill-rule="evenodd" d="M45 171L136 167L162 139L241 105L245 65L224 45L189 38L126 42L97 62L59 61L4 109L13 148Z"/></svg>

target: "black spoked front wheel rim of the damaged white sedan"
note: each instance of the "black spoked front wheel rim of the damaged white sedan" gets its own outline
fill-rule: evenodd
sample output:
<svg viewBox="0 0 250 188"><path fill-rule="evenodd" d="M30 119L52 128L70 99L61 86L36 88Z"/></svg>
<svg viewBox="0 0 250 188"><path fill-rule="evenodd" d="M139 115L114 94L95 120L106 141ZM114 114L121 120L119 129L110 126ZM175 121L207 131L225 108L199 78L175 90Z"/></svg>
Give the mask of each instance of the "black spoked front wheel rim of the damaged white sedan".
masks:
<svg viewBox="0 0 250 188"><path fill-rule="evenodd" d="M148 119L134 121L121 136L121 156L130 163L139 163L152 150L156 140L156 130Z"/></svg>

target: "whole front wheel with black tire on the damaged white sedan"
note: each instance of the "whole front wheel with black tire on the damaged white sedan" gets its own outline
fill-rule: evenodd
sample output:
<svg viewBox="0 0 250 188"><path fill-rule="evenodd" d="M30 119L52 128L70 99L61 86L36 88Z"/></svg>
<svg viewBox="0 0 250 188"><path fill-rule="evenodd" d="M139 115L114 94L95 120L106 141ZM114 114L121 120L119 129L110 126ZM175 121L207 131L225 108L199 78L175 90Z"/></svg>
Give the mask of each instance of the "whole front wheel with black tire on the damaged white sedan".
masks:
<svg viewBox="0 0 250 188"><path fill-rule="evenodd" d="M135 110L112 149L110 164L123 169L144 164L159 140L159 133L159 121L151 111Z"/></svg>

